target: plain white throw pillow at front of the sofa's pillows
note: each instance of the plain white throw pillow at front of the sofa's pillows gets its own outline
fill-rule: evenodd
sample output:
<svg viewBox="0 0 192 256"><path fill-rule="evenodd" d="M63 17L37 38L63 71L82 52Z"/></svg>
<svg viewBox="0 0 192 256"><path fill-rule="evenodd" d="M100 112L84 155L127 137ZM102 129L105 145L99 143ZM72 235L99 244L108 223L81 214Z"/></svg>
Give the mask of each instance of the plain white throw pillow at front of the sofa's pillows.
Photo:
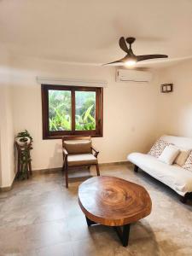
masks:
<svg viewBox="0 0 192 256"><path fill-rule="evenodd" d="M172 165L173 161L176 159L180 150L173 145L166 146L162 154L160 154L159 160L168 165Z"/></svg>

